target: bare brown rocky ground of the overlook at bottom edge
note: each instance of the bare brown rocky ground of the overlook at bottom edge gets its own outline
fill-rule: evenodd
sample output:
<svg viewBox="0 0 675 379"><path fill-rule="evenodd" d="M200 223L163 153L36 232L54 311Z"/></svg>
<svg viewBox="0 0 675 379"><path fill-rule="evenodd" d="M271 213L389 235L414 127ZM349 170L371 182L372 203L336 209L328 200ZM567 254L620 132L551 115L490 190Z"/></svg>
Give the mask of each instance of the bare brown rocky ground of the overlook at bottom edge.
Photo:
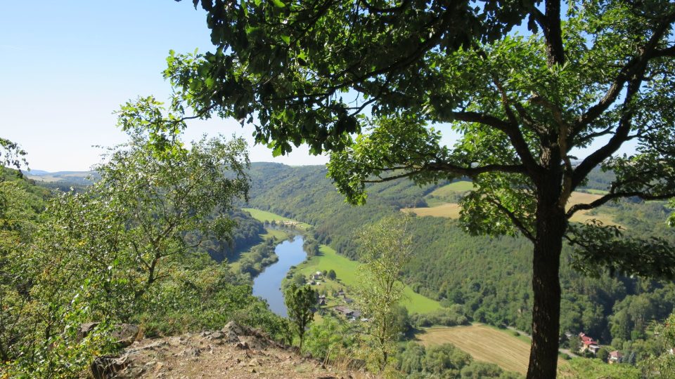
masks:
<svg viewBox="0 0 675 379"><path fill-rule="evenodd" d="M94 378L368 378L300 357L263 333L233 322L221 331L138 340L98 357Z"/></svg>

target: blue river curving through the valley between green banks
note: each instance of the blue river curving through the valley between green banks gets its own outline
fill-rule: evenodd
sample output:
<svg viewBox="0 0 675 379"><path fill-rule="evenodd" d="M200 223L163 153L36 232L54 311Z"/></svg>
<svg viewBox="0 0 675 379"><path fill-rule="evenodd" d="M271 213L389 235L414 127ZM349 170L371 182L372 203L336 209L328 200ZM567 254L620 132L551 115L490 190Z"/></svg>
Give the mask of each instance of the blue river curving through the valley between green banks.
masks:
<svg viewBox="0 0 675 379"><path fill-rule="evenodd" d="M259 296L269 303L269 309L279 316L286 317L286 306L281 293L281 280L286 277L291 266L299 265L307 258L302 250L302 236L295 236L290 241L283 241L274 248L279 260L269 265L253 279L253 295Z"/></svg>

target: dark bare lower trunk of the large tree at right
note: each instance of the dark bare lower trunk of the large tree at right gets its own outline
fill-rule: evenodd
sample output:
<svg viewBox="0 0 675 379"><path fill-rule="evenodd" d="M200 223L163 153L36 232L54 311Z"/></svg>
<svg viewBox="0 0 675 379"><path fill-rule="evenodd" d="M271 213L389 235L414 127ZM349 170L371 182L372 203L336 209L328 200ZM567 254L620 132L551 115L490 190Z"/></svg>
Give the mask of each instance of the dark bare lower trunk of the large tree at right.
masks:
<svg viewBox="0 0 675 379"><path fill-rule="evenodd" d="M553 195L553 196L551 196ZM560 335L560 252L567 228L564 209L555 194L539 198L536 214L536 240L532 271L534 307L532 309L532 347L528 379L555 378Z"/></svg>

